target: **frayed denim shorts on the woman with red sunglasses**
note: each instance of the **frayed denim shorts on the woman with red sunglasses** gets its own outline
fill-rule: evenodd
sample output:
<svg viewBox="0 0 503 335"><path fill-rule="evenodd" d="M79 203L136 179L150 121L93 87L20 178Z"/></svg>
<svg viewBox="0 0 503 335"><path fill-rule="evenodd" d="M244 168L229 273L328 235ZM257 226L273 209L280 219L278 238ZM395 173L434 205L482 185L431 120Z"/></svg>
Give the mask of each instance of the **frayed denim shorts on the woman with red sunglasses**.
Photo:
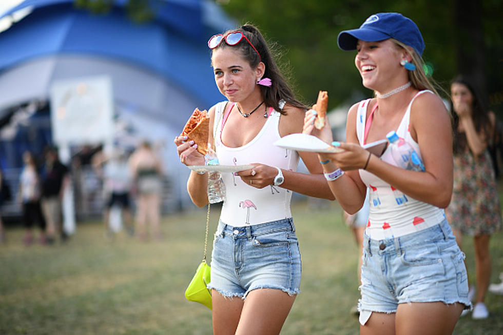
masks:
<svg viewBox="0 0 503 335"><path fill-rule="evenodd" d="M301 260L293 220L233 227L219 222L208 288L224 297L246 298L258 288L300 292Z"/></svg>

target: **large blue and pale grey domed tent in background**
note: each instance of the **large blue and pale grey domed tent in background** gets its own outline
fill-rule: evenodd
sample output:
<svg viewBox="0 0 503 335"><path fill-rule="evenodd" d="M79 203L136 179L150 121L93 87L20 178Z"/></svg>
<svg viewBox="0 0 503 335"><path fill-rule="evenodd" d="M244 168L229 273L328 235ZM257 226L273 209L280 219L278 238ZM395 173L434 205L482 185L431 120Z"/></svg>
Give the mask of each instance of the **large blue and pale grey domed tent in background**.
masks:
<svg viewBox="0 0 503 335"><path fill-rule="evenodd" d="M223 100L206 42L236 24L210 0L151 0L154 18L143 24L127 16L126 4L114 0L108 13L93 14L74 0L25 0L0 17L28 13L0 32L0 120L48 101L55 81L107 75L118 119L142 139L163 141L166 173L186 180L172 139L196 107ZM22 149L2 142L2 159Z"/></svg>

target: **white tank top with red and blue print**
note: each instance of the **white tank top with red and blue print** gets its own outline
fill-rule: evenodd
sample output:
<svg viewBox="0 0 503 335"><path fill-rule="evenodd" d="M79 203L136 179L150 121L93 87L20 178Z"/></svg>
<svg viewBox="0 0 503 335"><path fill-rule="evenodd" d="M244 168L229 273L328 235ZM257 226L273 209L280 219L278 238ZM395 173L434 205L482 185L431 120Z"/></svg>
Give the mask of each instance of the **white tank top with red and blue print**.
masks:
<svg viewBox="0 0 503 335"><path fill-rule="evenodd" d="M409 103L396 133L405 139L421 157L419 145L412 139L409 131L411 106L414 99L425 92L418 92ZM366 110L371 99L362 101L358 106L356 133L360 145L363 145L363 134L366 122ZM386 163L396 165L387 148L380 159ZM369 188L369 221L365 233L373 240L396 238L439 224L445 218L443 209L415 200L403 194L376 175L360 169L360 178Z"/></svg>

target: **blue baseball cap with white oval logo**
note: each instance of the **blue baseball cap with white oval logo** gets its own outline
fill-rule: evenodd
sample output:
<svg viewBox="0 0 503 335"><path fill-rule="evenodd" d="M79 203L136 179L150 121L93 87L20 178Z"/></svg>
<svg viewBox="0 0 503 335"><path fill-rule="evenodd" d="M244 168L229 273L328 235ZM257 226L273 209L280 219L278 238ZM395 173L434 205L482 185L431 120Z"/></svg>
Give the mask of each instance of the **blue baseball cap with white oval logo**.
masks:
<svg viewBox="0 0 503 335"><path fill-rule="evenodd" d="M424 51L424 41L416 24L399 13L377 13L369 16L358 29L344 30L337 37L342 50L356 50L358 40L377 42L395 38L413 47L419 55Z"/></svg>

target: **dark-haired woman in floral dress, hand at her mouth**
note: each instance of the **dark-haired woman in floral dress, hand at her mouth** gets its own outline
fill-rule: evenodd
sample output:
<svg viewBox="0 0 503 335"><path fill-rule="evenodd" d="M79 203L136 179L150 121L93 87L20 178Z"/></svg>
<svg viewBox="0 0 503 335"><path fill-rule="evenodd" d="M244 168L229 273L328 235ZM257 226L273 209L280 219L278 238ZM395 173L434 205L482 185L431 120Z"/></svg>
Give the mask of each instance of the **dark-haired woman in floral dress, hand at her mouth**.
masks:
<svg viewBox="0 0 503 335"><path fill-rule="evenodd" d="M461 248L463 235L473 237L475 247L476 290L472 317L486 319L484 303L491 278L491 234L501 229L501 211L488 146L491 144L496 116L481 100L467 76L459 75L451 83L451 114L454 130L454 189L446 209L456 240Z"/></svg>

